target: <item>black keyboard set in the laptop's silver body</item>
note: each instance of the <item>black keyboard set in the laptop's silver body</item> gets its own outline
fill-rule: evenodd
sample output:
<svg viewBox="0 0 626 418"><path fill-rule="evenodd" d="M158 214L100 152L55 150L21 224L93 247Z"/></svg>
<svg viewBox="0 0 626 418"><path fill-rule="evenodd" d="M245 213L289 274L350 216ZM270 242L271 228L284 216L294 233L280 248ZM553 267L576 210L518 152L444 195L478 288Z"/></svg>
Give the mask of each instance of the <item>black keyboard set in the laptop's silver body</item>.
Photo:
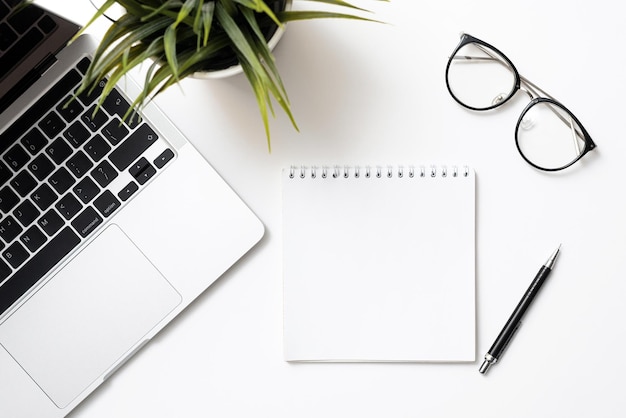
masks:
<svg viewBox="0 0 626 418"><path fill-rule="evenodd" d="M0 134L0 314L174 157L117 89L94 114L104 81L70 100L88 66Z"/></svg>

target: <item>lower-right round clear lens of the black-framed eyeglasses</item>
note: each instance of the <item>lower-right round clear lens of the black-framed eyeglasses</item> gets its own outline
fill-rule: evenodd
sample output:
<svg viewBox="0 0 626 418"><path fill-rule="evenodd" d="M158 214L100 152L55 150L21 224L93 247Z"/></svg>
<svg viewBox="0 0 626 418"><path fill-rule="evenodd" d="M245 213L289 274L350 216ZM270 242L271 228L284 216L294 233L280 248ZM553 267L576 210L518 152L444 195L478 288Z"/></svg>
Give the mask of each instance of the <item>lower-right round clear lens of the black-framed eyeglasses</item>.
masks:
<svg viewBox="0 0 626 418"><path fill-rule="evenodd" d="M524 158L548 170L570 165L585 150L580 125L555 102L540 101L527 107L515 135Z"/></svg>

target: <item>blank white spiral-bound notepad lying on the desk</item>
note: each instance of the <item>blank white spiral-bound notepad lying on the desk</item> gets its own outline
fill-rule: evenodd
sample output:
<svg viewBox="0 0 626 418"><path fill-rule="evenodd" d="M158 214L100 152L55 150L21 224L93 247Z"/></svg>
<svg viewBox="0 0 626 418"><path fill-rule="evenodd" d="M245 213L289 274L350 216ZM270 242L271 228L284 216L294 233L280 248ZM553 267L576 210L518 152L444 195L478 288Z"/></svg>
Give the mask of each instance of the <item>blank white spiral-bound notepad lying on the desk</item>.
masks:
<svg viewBox="0 0 626 418"><path fill-rule="evenodd" d="M472 169L282 176L285 360L475 360Z"/></svg>

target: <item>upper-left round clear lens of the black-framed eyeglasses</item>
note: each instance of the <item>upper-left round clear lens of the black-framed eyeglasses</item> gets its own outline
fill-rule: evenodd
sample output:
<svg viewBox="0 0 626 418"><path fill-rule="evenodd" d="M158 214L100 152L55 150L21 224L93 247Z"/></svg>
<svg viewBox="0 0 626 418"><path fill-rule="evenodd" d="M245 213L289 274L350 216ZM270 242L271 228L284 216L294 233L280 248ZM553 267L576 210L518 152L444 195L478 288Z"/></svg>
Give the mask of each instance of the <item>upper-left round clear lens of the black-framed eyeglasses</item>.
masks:
<svg viewBox="0 0 626 418"><path fill-rule="evenodd" d="M448 67L450 93L466 107L486 110L516 91L516 75L496 51L475 43L463 45Z"/></svg>

